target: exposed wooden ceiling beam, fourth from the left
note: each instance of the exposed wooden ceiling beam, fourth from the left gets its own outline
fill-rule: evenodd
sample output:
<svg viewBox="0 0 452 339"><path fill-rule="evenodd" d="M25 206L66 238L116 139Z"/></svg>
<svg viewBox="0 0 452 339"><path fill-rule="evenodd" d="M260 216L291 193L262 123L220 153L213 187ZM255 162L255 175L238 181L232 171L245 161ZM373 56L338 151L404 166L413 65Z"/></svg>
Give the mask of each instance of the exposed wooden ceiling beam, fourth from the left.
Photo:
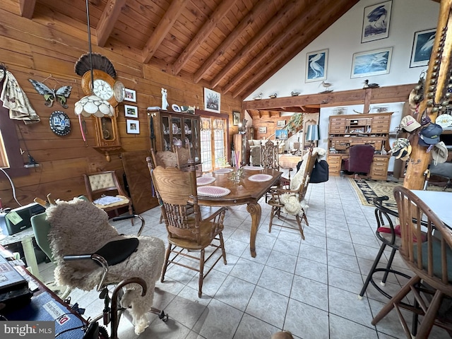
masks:
<svg viewBox="0 0 452 339"><path fill-rule="evenodd" d="M191 40L186 49L184 49L184 52L182 52L181 55L179 55L179 58L177 58L177 60L174 62L174 75L179 74L181 69L185 66L186 62L189 61L189 59L196 52L196 49L201 46L202 42L206 40L206 37L210 35L210 33L215 29L217 24L222 20L222 18L226 15L230 8L234 6L236 1L237 0L222 1L220 6L215 8L212 16L210 16L206 23L204 23L201 30L196 33L196 36L193 38L193 40Z"/></svg>

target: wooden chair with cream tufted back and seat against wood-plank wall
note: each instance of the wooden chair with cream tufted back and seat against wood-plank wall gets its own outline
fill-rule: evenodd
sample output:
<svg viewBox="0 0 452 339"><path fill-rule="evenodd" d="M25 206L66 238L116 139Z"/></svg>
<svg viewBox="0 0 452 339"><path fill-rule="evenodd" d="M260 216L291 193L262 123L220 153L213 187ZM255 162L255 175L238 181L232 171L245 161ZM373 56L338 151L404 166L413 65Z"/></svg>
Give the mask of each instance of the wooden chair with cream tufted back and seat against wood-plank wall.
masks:
<svg viewBox="0 0 452 339"><path fill-rule="evenodd" d="M133 215L132 199L123 191L114 171L83 174L83 178L85 179L86 194L91 202L95 203L97 198L102 195L113 196L117 194L114 197L119 199L119 201L106 205L95 203L95 206L105 210L105 212L114 210L116 216L119 215L119 208L127 207L129 208L129 215ZM133 218L131 218L131 224L133 225Z"/></svg>

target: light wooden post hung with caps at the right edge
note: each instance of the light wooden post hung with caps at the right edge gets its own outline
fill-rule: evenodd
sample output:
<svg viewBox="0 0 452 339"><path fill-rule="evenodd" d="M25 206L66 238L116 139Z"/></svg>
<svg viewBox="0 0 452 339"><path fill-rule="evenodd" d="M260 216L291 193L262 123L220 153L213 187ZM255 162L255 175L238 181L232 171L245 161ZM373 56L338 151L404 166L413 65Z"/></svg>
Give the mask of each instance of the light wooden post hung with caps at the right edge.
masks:
<svg viewBox="0 0 452 339"><path fill-rule="evenodd" d="M452 55L452 18L451 18L452 0L441 0L439 9L438 25L436 26L436 35L430 56L429 68L424 84L424 96L419 103L417 121L421 121L422 113L427 109L427 114L432 122L436 120L438 112L432 109L429 100L434 100L435 104L441 102L444 98L449 84L448 70L451 67L450 59ZM443 37L443 39L441 39ZM436 86L432 90L431 86ZM434 97L429 98L428 94L434 92ZM444 99L443 99L444 100ZM407 189L422 189L424 186L424 172L432 161L432 155L427 153L427 147L418 144L419 135L415 133L410 138L412 152L408 160L407 172L403 181L403 186Z"/></svg>

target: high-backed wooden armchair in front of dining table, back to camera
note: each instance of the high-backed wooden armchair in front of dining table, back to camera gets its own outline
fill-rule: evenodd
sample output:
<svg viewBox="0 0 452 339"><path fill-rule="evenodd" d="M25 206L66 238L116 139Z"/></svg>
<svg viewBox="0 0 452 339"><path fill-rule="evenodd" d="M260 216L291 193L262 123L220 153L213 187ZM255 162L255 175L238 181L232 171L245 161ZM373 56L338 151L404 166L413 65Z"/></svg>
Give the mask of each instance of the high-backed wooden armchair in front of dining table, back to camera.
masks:
<svg viewBox="0 0 452 339"><path fill-rule="evenodd" d="M168 246L160 280L165 280L170 264L196 270L199 273L198 297L201 298L204 278L221 258L225 265L227 263L222 236L227 208L219 208L207 218L202 217L198 206L196 168L193 163L185 172L176 167L154 168L150 157L147 157L146 161L168 233ZM193 208L194 213L189 211L189 207ZM205 258L206 248L209 246L214 250ZM219 256L215 255L217 251L220 252ZM196 256L196 253L199 255ZM180 261L181 256L189 260ZM210 259L213 263L207 273L204 273L204 266ZM198 261L198 266L190 266L190 261Z"/></svg>

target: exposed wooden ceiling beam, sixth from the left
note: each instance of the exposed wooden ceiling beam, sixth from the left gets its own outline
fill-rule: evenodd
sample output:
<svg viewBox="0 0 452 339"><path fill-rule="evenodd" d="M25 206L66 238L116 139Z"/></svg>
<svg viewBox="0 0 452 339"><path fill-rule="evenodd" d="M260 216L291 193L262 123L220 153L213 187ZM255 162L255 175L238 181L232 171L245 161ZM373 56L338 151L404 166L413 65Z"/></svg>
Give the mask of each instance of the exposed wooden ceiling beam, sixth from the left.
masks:
<svg viewBox="0 0 452 339"><path fill-rule="evenodd" d="M283 20L289 20L288 17L290 17L290 14L292 13L292 11L294 11L296 6L297 1L288 2L287 4L285 4L285 6L281 8L281 10L278 11L278 13L276 13L276 15L273 16L273 18L270 21L268 21L268 23L266 23L266 25L256 35L254 35L254 37L246 44L246 46L240 49L240 51L235 55L235 57L232 58L232 60L229 61L225 67L222 68L222 70L210 82L210 87L216 88L216 86L218 85L218 83L220 83L222 78L225 78L227 73L230 73L230 71L234 69L234 66L236 66L237 63L239 63L239 61L246 54L249 54L254 49L254 47L256 47L256 44L261 42L261 40L263 40L263 38L268 35L268 32L270 32L275 25L277 25ZM230 81L230 83L232 83L233 85L234 81ZM227 93L227 91L230 90L230 88L223 88L223 90L225 91L225 93Z"/></svg>

